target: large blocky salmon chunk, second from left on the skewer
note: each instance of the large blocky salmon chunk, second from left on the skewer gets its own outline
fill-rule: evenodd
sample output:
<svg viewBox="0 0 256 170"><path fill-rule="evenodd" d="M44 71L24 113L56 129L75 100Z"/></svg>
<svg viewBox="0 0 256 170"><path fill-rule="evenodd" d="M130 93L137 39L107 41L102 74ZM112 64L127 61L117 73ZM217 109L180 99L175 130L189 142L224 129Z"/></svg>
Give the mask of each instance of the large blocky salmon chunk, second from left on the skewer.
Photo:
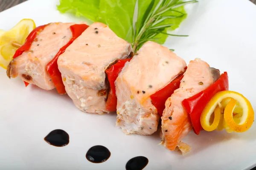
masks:
<svg viewBox="0 0 256 170"><path fill-rule="evenodd" d="M105 70L130 54L131 44L107 25L91 24L58 58L65 89L76 107L87 113L109 113Z"/></svg>

